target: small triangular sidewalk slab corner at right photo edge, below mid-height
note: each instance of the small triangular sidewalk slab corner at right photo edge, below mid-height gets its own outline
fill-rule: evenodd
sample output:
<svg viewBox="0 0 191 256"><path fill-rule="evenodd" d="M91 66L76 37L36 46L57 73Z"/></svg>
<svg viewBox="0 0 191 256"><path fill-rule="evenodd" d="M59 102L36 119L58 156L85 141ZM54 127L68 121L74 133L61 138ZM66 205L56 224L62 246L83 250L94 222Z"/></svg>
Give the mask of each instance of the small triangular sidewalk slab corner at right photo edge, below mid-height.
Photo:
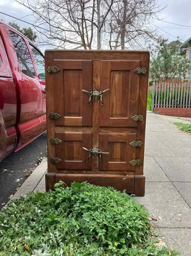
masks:
<svg viewBox="0 0 191 256"><path fill-rule="evenodd" d="M191 207L191 182L173 182L173 185Z"/></svg>

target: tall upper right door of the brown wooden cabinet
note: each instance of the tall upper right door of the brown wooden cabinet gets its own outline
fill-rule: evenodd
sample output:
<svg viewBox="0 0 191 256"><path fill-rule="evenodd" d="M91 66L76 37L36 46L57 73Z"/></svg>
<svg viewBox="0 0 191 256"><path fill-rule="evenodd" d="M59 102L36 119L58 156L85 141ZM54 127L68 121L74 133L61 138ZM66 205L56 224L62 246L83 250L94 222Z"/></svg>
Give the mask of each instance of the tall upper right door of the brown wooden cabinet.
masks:
<svg viewBox="0 0 191 256"><path fill-rule="evenodd" d="M100 126L137 127L131 117L138 115L140 75L133 72L141 61L102 60L100 89L102 96Z"/></svg>

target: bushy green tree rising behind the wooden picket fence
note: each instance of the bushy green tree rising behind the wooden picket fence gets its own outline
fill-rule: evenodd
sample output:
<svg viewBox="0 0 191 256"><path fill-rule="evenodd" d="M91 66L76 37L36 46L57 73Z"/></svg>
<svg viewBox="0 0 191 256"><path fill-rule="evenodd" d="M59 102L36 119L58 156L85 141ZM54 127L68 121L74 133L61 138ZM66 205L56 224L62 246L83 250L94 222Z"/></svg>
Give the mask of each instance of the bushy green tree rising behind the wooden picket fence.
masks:
<svg viewBox="0 0 191 256"><path fill-rule="evenodd" d="M162 40L155 49L155 56L150 61L149 76L154 82L186 81L191 72L191 61L177 51L175 45L169 46L167 40Z"/></svg>

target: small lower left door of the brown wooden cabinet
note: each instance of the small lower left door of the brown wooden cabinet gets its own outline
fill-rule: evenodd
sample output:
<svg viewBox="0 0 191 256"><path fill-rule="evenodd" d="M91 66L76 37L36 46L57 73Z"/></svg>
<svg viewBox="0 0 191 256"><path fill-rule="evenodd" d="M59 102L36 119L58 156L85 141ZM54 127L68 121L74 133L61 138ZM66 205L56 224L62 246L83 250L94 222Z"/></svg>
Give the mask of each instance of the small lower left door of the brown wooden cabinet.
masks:
<svg viewBox="0 0 191 256"><path fill-rule="evenodd" d="M88 154L82 149L92 147L92 133L83 132L56 132L56 137L62 143L55 145L56 157L62 160L56 164L57 169L62 170L90 170L92 159L88 160Z"/></svg>

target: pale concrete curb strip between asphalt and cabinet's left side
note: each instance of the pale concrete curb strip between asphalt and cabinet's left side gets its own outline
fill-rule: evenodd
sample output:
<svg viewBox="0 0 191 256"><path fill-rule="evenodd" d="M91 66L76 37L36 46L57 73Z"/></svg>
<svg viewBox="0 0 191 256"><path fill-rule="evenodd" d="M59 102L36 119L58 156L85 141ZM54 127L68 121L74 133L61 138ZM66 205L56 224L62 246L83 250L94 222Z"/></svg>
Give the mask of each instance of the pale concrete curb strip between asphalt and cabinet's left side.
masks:
<svg viewBox="0 0 191 256"><path fill-rule="evenodd" d="M16 191L11 200L18 199L22 195L26 195L29 192L33 192L43 179L47 171L47 157L44 157L41 163L34 169L33 173L24 181L22 186ZM10 202L9 201L9 202ZM9 202L7 204L9 204Z"/></svg>

